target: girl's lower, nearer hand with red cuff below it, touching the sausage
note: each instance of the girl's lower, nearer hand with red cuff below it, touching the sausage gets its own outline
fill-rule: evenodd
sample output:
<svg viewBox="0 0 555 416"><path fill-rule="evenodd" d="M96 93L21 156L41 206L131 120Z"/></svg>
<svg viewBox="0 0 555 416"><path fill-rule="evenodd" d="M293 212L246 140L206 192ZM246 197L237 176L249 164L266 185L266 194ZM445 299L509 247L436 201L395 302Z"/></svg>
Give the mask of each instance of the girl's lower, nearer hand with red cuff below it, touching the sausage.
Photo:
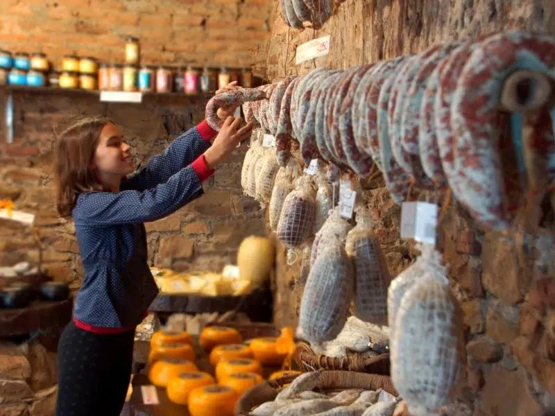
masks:
<svg viewBox="0 0 555 416"><path fill-rule="evenodd" d="M234 116L229 116L225 119L220 132L214 139L214 143L204 153L206 163L210 168L216 168L243 139L250 135L253 130L253 123L249 122L243 128L239 128L242 122L241 117L236 119Z"/></svg>

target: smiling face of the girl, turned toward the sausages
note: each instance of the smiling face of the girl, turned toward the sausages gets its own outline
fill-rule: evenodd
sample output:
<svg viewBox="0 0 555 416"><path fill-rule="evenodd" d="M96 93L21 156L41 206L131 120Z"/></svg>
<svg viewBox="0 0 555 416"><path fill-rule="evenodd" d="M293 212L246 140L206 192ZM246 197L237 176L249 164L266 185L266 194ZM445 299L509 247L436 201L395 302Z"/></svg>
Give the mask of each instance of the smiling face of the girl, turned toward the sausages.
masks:
<svg viewBox="0 0 555 416"><path fill-rule="evenodd" d="M108 123L103 127L93 158L96 173L103 182L114 183L133 173L135 162L130 150L116 125Z"/></svg>

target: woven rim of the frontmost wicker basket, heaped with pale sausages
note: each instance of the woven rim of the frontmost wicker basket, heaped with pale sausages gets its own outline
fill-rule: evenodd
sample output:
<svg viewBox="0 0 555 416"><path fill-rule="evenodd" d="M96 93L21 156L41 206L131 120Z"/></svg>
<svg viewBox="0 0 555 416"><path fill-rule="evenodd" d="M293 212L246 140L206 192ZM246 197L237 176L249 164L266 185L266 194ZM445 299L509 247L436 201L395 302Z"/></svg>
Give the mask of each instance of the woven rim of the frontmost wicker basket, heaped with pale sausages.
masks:
<svg viewBox="0 0 555 416"><path fill-rule="evenodd" d="M236 416L248 416L250 411L266 401L272 401L278 395L283 386L291 383L296 376L282 377L274 381L265 381L248 390L235 406ZM353 371L322 370L317 390L322 392L333 392L336 390L348 390L360 388L364 390L382 390L398 397L399 393L393 387L393 382L388 376L379 374L368 374Z"/></svg>

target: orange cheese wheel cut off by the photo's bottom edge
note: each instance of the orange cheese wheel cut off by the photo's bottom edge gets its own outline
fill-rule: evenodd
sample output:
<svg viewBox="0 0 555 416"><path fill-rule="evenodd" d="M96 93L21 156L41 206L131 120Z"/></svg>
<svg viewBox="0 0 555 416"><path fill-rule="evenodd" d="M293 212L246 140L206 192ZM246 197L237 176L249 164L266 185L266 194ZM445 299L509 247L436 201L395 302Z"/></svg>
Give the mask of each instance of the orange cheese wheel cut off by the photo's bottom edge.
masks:
<svg viewBox="0 0 555 416"><path fill-rule="evenodd" d="M227 385L207 385L189 395L191 416L233 416L239 394Z"/></svg>

